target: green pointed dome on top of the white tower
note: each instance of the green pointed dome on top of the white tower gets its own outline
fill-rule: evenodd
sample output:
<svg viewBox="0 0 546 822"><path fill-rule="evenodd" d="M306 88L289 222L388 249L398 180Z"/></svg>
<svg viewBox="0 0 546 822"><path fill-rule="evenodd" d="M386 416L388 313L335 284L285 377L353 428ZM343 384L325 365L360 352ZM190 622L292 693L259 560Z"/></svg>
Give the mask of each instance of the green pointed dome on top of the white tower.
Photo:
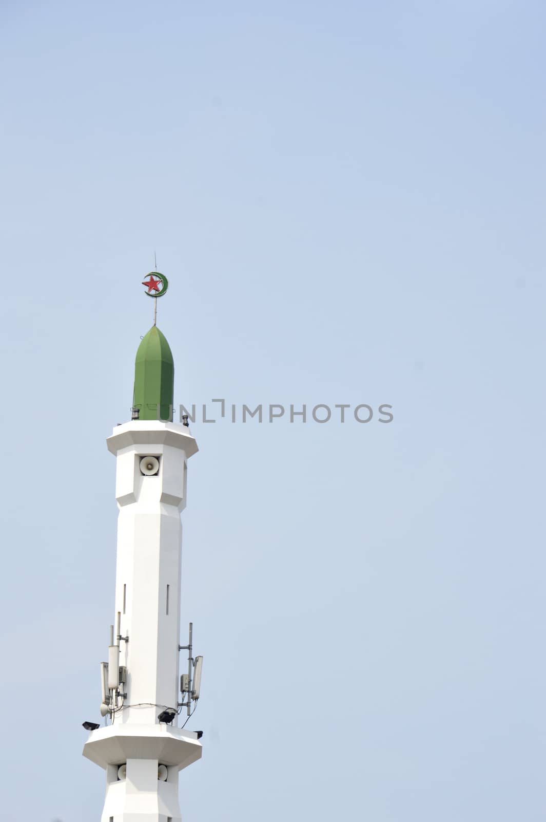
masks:
<svg viewBox="0 0 546 822"><path fill-rule="evenodd" d="M167 339L152 326L139 345L135 359L135 392L133 407L140 410L139 419L172 420L174 363Z"/></svg>

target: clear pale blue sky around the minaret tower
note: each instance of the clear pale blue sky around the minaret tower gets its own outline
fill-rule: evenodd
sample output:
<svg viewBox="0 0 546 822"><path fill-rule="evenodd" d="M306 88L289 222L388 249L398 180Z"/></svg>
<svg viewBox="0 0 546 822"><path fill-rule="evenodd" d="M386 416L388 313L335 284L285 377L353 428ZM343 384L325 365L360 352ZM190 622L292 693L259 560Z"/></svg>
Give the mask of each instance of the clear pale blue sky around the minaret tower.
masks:
<svg viewBox="0 0 546 822"><path fill-rule="evenodd" d="M9 2L2 820L97 822L152 320L192 426L185 822L544 819L542 2Z"/></svg>

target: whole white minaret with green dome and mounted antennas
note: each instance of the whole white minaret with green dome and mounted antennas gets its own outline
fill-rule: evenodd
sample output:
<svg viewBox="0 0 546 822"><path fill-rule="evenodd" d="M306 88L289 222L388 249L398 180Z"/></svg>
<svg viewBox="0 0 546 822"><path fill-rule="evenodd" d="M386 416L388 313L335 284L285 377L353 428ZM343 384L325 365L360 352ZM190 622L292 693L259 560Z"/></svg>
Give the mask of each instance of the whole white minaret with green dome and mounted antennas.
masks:
<svg viewBox="0 0 546 822"><path fill-rule="evenodd" d="M190 673L179 701L180 515L187 460L198 449L189 428L172 422L173 376L171 349L154 324L136 353L133 418L107 440L119 509L115 629L101 666L108 725L85 723L94 729L84 746L106 770L101 822L181 822L178 773L201 755L198 734L177 727L181 705L190 713L199 697L188 681L195 660L182 646Z"/></svg>

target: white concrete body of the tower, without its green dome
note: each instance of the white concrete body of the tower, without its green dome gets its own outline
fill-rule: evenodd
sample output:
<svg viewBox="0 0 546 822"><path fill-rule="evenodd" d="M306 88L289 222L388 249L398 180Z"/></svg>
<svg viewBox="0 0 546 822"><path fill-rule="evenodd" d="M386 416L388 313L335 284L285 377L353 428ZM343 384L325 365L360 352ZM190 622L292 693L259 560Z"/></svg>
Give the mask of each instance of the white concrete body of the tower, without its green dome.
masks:
<svg viewBox="0 0 546 822"><path fill-rule="evenodd" d="M127 668L126 707L115 714L112 726L89 734L84 754L106 769L101 822L181 822L178 771L199 759L201 746L180 737L185 732L160 726L158 713L164 707L177 709L181 699L180 514L186 506L186 462L197 445L187 427L137 420L116 427L108 449L117 457L114 624L120 612L120 632L129 637L120 644L120 664ZM157 457L157 475L142 475L144 456ZM126 778L119 780L117 768L124 760ZM159 764L168 766L166 782L158 780Z"/></svg>

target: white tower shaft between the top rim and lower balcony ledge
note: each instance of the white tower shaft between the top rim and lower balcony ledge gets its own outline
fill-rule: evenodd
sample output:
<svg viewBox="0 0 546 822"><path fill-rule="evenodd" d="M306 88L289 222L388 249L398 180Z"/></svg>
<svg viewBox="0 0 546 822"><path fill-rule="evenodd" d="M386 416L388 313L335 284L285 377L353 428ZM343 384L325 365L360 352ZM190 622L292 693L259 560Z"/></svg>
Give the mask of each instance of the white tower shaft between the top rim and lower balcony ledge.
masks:
<svg viewBox="0 0 546 822"><path fill-rule="evenodd" d="M146 455L158 458L157 476L141 475ZM126 704L143 704L118 713L123 723L157 722L156 706L177 708L185 473L185 451L159 442L135 443L117 455L116 613L129 636L120 663L127 667Z"/></svg>

